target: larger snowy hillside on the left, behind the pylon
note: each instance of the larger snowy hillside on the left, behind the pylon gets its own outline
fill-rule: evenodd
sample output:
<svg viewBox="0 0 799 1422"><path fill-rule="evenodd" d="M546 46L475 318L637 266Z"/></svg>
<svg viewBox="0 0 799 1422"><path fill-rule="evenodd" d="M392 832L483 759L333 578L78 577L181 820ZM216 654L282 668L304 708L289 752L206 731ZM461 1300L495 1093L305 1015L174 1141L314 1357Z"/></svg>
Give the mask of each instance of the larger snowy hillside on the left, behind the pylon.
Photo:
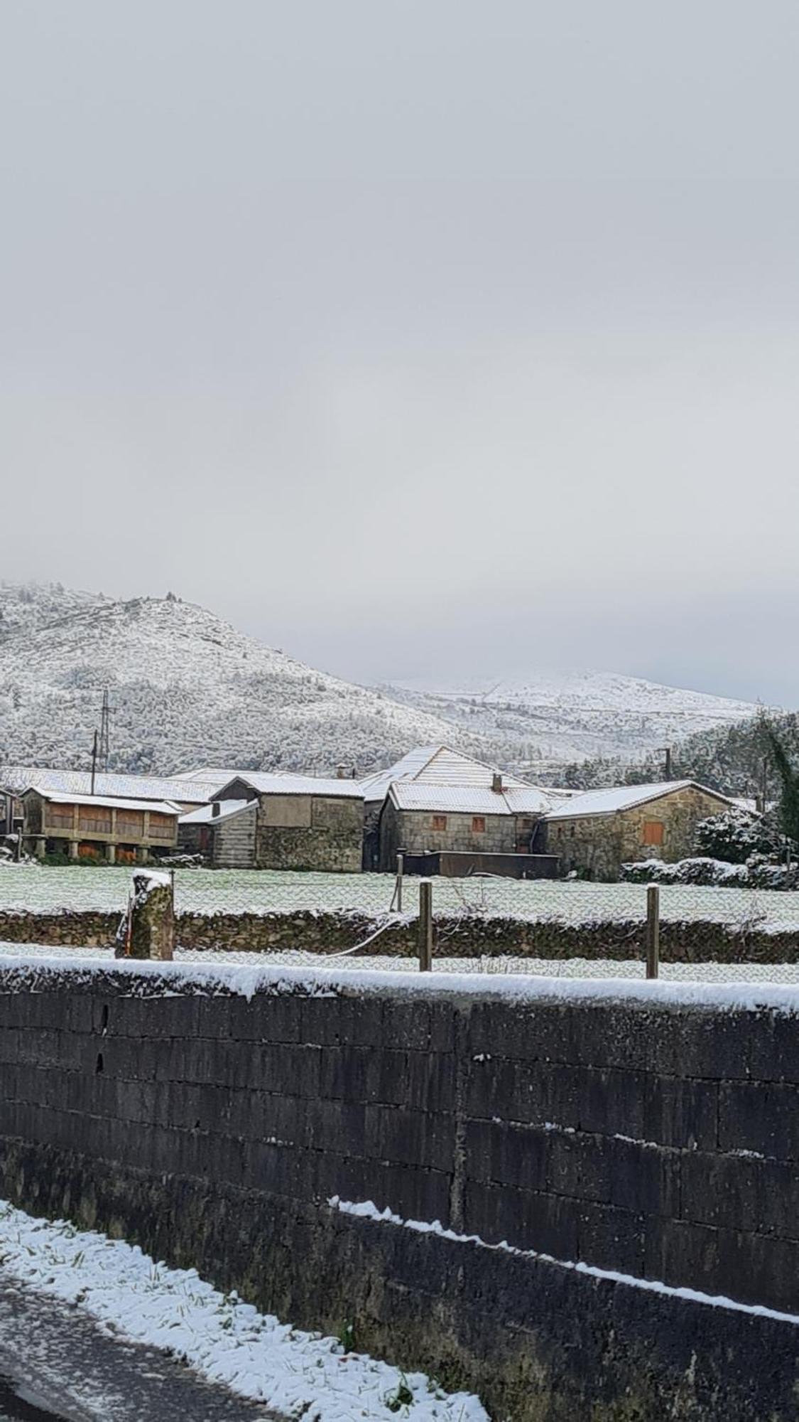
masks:
<svg viewBox="0 0 799 1422"><path fill-rule="evenodd" d="M87 766L105 687L118 771L355 764L365 774L419 742L476 745L192 603L0 583L0 764Z"/></svg>

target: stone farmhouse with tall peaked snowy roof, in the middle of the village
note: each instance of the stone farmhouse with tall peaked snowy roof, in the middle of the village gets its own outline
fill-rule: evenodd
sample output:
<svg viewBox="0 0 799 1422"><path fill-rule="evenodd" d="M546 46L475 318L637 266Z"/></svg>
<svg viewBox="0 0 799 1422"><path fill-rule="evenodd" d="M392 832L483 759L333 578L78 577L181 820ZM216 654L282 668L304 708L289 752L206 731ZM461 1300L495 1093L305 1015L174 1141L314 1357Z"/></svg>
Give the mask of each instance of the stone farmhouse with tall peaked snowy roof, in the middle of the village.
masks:
<svg viewBox="0 0 799 1422"><path fill-rule="evenodd" d="M392 870L397 853L436 852L527 855L536 826L552 808L529 785L449 747L425 747L363 782L367 805L367 853ZM372 796L384 792L377 826L370 826ZM371 835L370 835L371 829Z"/></svg>

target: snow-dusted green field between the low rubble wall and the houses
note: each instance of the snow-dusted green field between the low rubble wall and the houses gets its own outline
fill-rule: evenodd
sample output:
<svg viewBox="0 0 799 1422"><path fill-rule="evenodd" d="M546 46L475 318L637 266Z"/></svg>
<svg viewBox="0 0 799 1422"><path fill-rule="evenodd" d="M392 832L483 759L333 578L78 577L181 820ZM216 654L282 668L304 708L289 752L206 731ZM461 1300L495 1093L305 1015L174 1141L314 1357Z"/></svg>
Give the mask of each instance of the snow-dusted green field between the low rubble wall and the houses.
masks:
<svg viewBox="0 0 799 1422"><path fill-rule="evenodd" d="M50 869L0 866L0 910L47 913L57 909L122 912L127 869ZM290 913L300 909L388 910L392 875L314 875L277 870L178 870L178 912ZM405 879L402 907L418 909L418 879ZM435 879L438 913L502 914L526 921L614 923L645 916L643 884L525 882L515 879ZM664 884L661 917L707 920L738 927L799 933L799 893Z"/></svg>

